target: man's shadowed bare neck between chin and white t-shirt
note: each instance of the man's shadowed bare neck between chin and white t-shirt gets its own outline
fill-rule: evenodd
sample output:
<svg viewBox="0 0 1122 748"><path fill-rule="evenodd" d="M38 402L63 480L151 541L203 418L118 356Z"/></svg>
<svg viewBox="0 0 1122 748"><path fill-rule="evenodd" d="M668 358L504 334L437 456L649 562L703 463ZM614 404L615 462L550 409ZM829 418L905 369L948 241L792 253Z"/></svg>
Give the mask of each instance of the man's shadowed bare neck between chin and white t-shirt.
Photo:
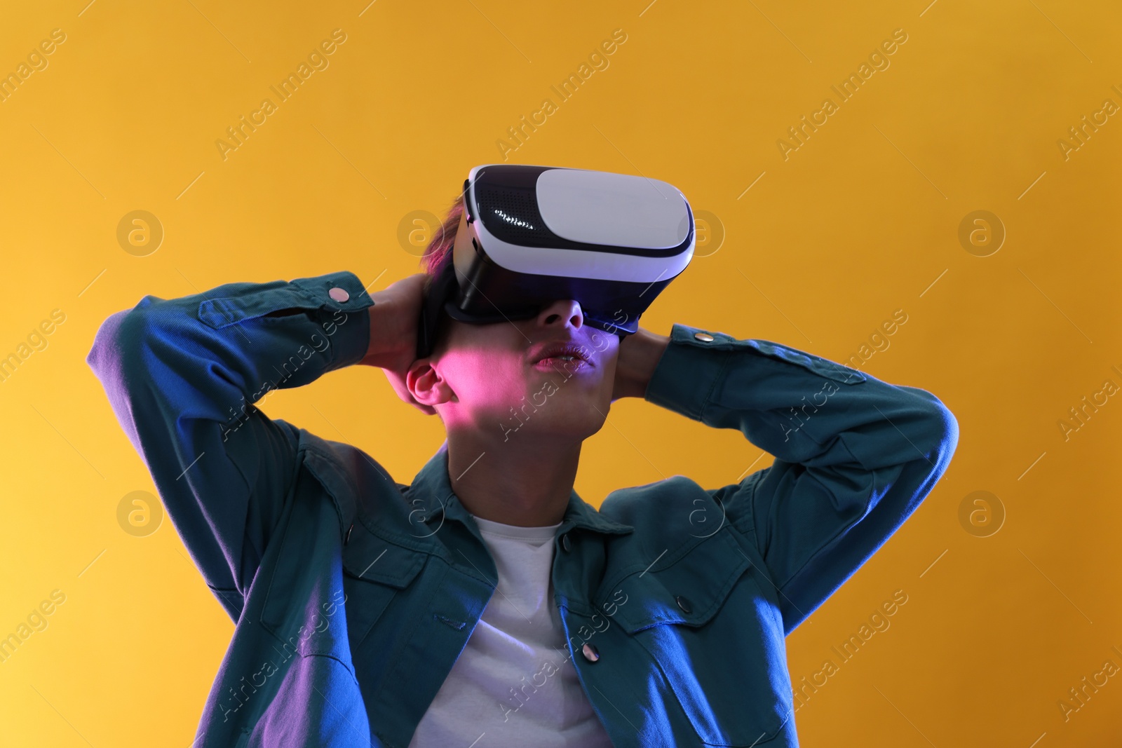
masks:
<svg viewBox="0 0 1122 748"><path fill-rule="evenodd" d="M581 442L531 434L504 442L453 431L448 434L448 478L460 504L476 517L517 527L555 525L569 506Z"/></svg>

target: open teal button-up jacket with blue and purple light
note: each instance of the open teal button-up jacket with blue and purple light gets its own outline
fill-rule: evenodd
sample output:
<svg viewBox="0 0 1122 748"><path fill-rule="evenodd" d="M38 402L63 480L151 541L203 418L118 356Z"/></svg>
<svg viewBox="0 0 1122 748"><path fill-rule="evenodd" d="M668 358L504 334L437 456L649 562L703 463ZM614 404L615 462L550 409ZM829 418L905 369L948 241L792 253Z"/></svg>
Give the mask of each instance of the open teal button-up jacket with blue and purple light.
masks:
<svg viewBox="0 0 1122 748"><path fill-rule="evenodd" d="M447 443L398 483L254 406L358 362L371 304L338 271L149 295L98 330L86 361L236 622L195 746L406 748L495 592ZM645 399L775 460L716 488L618 489L599 510L573 491L552 571L562 666L616 746L797 746L784 637L931 491L958 424L922 389L681 324Z"/></svg>

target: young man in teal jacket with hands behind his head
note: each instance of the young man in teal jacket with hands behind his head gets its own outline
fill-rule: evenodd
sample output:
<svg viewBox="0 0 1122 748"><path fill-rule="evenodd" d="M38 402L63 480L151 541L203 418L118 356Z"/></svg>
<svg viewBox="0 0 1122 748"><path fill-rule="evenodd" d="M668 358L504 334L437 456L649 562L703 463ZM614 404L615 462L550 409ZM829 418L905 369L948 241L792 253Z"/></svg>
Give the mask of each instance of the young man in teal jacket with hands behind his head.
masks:
<svg viewBox="0 0 1122 748"><path fill-rule="evenodd" d="M450 246L374 294L349 271L231 283L98 331L88 361L236 622L194 745L797 746L784 637L930 492L954 416L764 340L620 340L574 299L444 320L414 360ZM252 405L356 363L443 422L410 484ZM573 480L620 397L736 428L774 464L596 510Z"/></svg>

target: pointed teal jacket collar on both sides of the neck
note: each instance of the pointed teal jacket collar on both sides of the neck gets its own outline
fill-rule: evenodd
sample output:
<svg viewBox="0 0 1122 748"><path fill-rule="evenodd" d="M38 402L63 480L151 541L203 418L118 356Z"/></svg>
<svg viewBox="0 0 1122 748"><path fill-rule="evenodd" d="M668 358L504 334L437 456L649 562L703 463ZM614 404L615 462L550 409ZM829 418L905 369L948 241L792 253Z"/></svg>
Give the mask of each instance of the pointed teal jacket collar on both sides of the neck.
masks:
<svg viewBox="0 0 1122 748"><path fill-rule="evenodd" d="M436 532L442 521L459 519L471 528L472 534L477 536L479 534L478 525L471 517L471 514L460 504L459 498L452 491L452 483L448 475L447 440L413 479L408 491L408 500L415 508L423 507L423 521L433 533ZM557 534L560 536L573 527L580 527L594 533L615 535L625 535L635 529L631 525L608 519L597 511L595 507L581 499L576 490L569 492L569 506L565 508L564 517Z"/></svg>

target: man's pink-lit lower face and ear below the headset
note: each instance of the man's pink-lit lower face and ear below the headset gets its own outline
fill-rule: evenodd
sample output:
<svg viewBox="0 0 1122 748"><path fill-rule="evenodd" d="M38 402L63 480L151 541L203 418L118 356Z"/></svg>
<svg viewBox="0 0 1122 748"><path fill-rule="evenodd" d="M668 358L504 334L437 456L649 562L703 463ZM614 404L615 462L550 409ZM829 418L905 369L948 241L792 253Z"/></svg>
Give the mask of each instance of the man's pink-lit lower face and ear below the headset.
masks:
<svg viewBox="0 0 1122 748"><path fill-rule="evenodd" d="M448 431L579 441L604 425L619 336L587 326L578 302L553 302L530 320L447 324L430 364L449 388L449 399L434 406ZM571 344L582 358L537 361L553 343Z"/></svg>

